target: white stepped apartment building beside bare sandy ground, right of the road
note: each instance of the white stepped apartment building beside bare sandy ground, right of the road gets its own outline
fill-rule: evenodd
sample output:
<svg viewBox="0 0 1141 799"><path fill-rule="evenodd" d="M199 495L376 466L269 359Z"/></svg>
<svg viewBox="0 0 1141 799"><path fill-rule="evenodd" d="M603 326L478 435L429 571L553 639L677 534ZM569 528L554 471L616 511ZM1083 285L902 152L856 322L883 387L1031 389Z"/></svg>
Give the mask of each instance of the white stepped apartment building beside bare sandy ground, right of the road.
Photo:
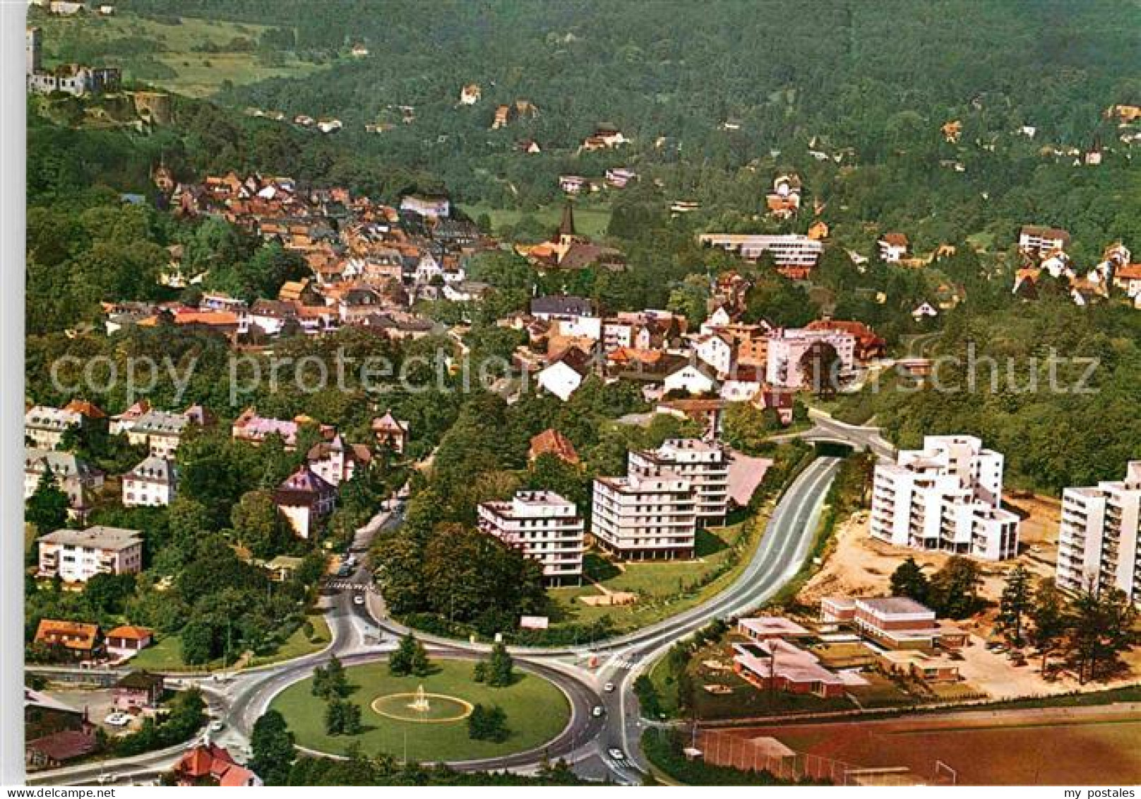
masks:
<svg viewBox="0 0 1141 799"><path fill-rule="evenodd" d="M925 436L875 468L872 536L915 549L1002 560L1018 555L1019 518L1003 510L1003 457L972 436Z"/></svg>

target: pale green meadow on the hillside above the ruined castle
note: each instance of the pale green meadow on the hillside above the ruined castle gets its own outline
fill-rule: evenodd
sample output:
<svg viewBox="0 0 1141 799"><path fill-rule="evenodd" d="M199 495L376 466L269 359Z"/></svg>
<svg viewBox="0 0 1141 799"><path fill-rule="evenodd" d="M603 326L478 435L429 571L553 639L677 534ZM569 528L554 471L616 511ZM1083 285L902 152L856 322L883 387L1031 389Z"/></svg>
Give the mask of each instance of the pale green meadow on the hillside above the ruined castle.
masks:
<svg viewBox="0 0 1141 799"><path fill-rule="evenodd" d="M213 95L226 81L240 86L319 68L286 53L274 54L267 63L254 51L266 25L194 17L168 24L124 13L112 17L37 15L34 24L43 30L47 66L73 60L120 66L127 80L192 97Z"/></svg>

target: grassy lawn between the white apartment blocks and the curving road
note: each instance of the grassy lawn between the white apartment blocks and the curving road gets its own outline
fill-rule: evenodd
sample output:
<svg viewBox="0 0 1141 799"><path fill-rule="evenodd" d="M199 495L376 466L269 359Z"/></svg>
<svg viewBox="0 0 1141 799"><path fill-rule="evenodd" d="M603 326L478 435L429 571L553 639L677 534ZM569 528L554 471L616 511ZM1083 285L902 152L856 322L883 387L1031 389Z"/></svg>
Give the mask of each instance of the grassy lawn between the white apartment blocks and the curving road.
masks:
<svg viewBox="0 0 1141 799"><path fill-rule="evenodd" d="M590 606L578 602L578 597L597 595L598 589L593 586L552 588L548 594L558 607L553 621L556 624L589 624L609 616L614 629L621 632L653 624L701 604L737 579L760 541L767 518L762 515L727 527L699 530L694 560L628 563L620 567L590 554L585 562L586 575L612 591L637 594L638 602L612 607ZM746 535L747 525L755 525L752 535ZM733 565L726 568L727 563Z"/></svg>

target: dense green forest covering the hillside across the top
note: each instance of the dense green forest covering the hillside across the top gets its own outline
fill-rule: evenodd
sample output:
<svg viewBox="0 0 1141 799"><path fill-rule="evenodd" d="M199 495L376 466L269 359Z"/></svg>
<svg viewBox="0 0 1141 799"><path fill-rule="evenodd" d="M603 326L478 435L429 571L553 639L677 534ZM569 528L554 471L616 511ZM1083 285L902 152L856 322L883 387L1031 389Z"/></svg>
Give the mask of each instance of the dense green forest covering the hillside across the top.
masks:
<svg viewBox="0 0 1141 799"><path fill-rule="evenodd" d="M277 25L275 46L307 57L367 45L369 57L221 99L340 118L337 137L358 159L430 173L458 197L497 208L555 201L560 172L632 164L644 184L662 185L621 204L661 215L683 196L703 203L693 224L747 229L772 173L796 169L855 242L898 228L920 248L970 233L1003 249L1018 225L1037 221L1070 229L1084 260L1141 233L1136 168L1102 115L1141 97L1134 2L827 0L802 13L786 2L663 2L653 14L592 0L387 2L383 14L363 1L123 7ZM469 82L483 99L459 106ZM520 98L539 115L489 130L494 105ZM414 107L411 124L399 122L402 105ZM963 123L958 144L939 132L952 119ZM739 127L722 129L728 120ZM364 132L377 121L396 124ZM577 154L601 121L633 144ZM1036 128L1033 139L1014 134L1021 126ZM525 137L543 152L517 152ZM1107 146L1102 169L1039 153L1095 139ZM810 147L832 158L817 161Z"/></svg>

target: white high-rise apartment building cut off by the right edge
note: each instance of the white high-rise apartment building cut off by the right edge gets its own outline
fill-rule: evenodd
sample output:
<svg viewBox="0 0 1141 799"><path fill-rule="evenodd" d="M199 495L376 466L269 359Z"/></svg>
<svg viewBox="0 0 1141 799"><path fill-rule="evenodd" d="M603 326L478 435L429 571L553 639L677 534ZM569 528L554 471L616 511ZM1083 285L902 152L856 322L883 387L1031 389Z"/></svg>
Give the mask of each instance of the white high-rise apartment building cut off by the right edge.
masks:
<svg viewBox="0 0 1141 799"><path fill-rule="evenodd" d="M1141 460L1130 461L1124 481L1066 489L1058 534L1058 586L1119 588L1141 602ZM1092 583L1092 584L1091 584Z"/></svg>

